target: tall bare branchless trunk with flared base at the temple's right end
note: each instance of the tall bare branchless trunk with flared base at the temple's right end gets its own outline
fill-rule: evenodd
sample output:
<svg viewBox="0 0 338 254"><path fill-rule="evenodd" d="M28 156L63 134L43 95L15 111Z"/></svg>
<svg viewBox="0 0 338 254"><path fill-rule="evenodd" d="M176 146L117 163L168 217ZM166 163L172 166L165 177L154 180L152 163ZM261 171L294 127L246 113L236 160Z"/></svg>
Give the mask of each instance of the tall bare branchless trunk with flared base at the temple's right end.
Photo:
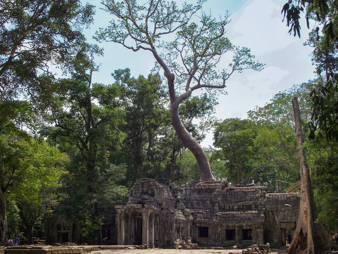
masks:
<svg viewBox="0 0 338 254"><path fill-rule="evenodd" d="M318 210L313 197L313 187L309 168L306 163L306 152L301 146L304 143L300 110L297 97L292 99L297 138L297 152L300 164L300 205L295 235L287 254L304 253L320 254L331 250L334 242L321 222L315 222Z"/></svg>

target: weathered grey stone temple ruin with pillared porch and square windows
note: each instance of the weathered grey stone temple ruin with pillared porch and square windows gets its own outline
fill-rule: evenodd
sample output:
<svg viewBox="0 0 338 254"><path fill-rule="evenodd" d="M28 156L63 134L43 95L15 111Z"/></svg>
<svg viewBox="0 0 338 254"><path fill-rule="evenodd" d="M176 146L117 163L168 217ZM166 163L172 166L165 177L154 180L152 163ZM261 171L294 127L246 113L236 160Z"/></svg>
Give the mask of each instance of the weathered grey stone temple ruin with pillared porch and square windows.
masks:
<svg viewBox="0 0 338 254"><path fill-rule="evenodd" d="M191 181L179 187L168 179L149 178L139 179L127 197L128 202L117 203L115 209L101 208L108 244L246 248L269 242L272 248L285 246L296 228L300 200L299 193L268 192L266 183ZM72 232L76 226L67 220L54 216L46 227L50 229L47 243L60 237L66 240L65 228L68 241L79 241Z"/></svg>

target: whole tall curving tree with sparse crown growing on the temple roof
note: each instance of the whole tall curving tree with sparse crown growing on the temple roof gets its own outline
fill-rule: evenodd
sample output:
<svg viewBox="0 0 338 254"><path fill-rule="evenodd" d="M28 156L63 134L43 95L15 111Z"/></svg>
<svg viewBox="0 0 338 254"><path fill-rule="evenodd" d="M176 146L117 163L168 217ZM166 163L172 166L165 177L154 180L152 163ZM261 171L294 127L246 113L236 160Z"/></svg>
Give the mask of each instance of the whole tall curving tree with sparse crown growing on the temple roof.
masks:
<svg viewBox="0 0 338 254"><path fill-rule="evenodd" d="M178 7L175 1L165 0L150 0L146 4L138 4L136 0L104 0L102 4L113 20L110 26L97 32L97 40L151 52L168 83L171 124L194 154L200 179L215 181L206 154L180 119L178 106L197 89L207 89L214 97L214 89L223 89L234 72L260 70L263 65L253 61L248 48L235 47L225 37L225 26L230 22L228 14L219 20L202 11L197 14L203 2ZM228 69L219 71L216 66L225 54L232 61Z"/></svg>

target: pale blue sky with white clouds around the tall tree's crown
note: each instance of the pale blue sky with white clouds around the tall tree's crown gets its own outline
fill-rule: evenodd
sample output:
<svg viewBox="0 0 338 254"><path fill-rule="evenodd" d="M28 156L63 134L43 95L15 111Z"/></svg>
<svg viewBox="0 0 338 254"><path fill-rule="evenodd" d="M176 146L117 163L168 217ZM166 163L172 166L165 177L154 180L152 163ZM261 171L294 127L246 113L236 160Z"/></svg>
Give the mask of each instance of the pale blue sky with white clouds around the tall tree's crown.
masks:
<svg viewBox="0 0 338 254"><path fill-rule="evenodd" d="M96 15L94 24L84 30L84 35L89 42L104 49L104 56L95 58L100 70L94 73L93 82L111 84L114 82L111 73L124 68L129 68L132 76L148 76L154 66L150 51L134 52L113 42L98 43L92 39L95 31L99 27L106 27L112 17L100 9L102 6L99 0L87 1L96 5ZM227 80L227 95L218 97L219 105L216 106L215 114L218 119L245 119L249 110L269 103L279 91L315 78L315 68L311 62L312 48L303 46L310 31L305 18L303 16L300 19L300 39L288 34L289 28L285 21L282 22L281 15L284 4L285 0L208 0L203 5L203 11L210 10L214 17L224 16L229 10L232 21L227 25L226 37L234 45L250 48L255 59L265 64L262 71L244 70ZM310 23L310 29L314 25ZM226 68L225 64L226 60L220 61L220 69ZM201 145L212 145L212 138L213 134L209 133Z"/></svg>

